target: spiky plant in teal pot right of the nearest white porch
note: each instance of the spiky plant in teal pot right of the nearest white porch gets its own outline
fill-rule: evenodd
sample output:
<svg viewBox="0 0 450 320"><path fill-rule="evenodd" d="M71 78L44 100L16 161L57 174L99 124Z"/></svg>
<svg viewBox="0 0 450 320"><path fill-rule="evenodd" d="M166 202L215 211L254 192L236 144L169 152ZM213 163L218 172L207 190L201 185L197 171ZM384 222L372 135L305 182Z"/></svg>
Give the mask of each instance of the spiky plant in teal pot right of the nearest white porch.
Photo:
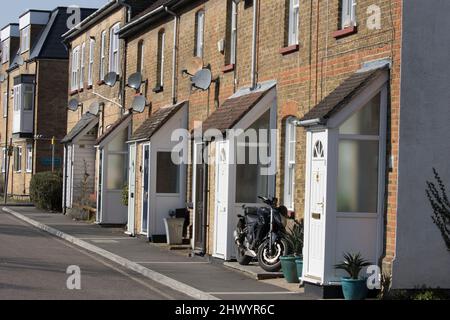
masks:
<svg viewBox="0 0 450 320"><path fill-rule="evenodd" d="M364 267L371 263L363 259L360 253L345 253L344 261L334 267L338 270L344 270L349 277L342 277L342 293L345 300L364 300L367 297L367 279L360 278L359 274Z"/></svg>

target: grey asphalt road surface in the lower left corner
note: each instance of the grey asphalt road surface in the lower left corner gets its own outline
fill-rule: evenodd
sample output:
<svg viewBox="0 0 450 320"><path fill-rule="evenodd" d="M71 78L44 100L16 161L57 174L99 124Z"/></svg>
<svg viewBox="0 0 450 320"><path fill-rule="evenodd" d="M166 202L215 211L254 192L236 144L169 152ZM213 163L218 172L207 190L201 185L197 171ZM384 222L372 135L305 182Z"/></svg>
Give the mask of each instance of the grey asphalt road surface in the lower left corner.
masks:
<svg viewBox="0 0 450 320"><path fill-rule="evenodd" d="M1 212L0 299L178 300L189 297Z"/></svg>

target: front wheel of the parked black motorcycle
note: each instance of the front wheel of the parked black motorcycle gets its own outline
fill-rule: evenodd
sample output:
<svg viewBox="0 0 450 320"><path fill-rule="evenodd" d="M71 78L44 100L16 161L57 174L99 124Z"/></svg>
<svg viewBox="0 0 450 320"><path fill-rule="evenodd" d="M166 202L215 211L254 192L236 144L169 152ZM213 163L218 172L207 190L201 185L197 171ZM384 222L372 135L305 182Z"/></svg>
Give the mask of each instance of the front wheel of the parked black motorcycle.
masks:
<svg viewBox="0 0 450 320"><path fill-rule="evenodd" d="M273 244L272 254L270 254L269 239L265 240L258 249L258 263L261 268L267 272L277 272L281 269L281 256L286 256L288 252L288 244L285 240L277 240Z"/></svg>

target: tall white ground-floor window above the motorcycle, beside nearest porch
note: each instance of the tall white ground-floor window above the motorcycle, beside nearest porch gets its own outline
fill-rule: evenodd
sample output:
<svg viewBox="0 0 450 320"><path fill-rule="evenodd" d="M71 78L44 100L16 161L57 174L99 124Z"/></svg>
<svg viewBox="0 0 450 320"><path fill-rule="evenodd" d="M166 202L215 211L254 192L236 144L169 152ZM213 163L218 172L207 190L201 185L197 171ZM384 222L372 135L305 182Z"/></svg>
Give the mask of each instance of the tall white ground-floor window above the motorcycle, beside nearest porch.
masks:
<svg viewBox="0 0 450 320"><path fill-rule="evenodd" d="M288 210L295 208L295 169L297 125L295 118L286 119L285 166L284 166L284 205Z"/></svg>

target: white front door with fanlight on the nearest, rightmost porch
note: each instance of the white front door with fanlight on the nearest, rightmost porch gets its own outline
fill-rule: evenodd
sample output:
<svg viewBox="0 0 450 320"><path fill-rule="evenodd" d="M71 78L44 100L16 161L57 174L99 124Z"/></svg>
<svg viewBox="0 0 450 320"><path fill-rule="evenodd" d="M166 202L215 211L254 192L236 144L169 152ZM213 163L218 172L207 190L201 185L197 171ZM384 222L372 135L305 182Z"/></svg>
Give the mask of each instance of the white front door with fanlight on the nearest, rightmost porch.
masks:
<svg viewBox="0 0 450 320"><path fill-rule="evenodd" d="M324 270L326 132L313 132L311 142L307 276L321 280Z"/></svg>

